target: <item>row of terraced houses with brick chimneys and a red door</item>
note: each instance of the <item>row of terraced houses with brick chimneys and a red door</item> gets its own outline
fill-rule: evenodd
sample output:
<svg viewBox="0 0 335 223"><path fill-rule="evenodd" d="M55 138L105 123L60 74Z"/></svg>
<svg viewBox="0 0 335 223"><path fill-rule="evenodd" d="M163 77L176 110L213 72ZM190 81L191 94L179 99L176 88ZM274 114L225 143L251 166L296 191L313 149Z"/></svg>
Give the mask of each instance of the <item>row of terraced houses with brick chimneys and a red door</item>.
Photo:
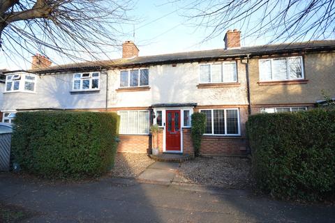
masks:
<svg viewBox="0 0 335 223"><path fill-rule="evenodd" d="M335 40L241 47L228 31L220 49L138 56L131 41L121 59L51 66L33 56L31 70L6 75L1 112L40 109L117 112L118 151L151 150L149 126L161 128L165 153L191 153L191 114L207 116L204 155L246 155L249 114L311 109L321 91L335 96Z"/></svg>

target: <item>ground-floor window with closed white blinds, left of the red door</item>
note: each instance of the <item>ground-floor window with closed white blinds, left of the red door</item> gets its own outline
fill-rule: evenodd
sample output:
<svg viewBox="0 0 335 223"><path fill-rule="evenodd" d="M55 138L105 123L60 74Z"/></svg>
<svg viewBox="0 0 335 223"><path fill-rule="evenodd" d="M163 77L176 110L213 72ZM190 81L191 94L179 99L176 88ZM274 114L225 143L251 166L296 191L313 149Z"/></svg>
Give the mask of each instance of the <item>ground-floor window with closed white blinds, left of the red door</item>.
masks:
<svg viewBox="0 0 335 223"><path fill-rule="evenodd" d="M120 134L149 134L149 111L121 111Z"/></svg>

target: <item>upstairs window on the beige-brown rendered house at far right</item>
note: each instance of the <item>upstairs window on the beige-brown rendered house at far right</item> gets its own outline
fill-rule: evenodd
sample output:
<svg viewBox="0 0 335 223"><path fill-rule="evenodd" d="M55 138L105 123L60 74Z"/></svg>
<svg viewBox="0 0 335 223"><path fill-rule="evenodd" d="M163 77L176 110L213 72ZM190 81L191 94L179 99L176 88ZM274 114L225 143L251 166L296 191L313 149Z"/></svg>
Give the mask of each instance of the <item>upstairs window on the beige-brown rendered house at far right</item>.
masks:
<svg viewBox="0 0 335 223"><path fill-rule="evenodd" d="M291 56L258 61L260 81L304 79L301 56Z"/></svg>

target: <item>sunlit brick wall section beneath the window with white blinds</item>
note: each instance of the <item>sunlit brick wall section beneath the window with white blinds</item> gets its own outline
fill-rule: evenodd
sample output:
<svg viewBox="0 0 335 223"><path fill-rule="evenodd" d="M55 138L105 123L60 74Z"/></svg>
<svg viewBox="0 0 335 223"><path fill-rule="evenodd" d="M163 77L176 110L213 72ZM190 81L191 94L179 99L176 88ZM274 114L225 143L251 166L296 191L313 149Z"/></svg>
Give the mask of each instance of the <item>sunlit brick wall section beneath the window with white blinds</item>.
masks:
<svg viewBox="0 0 335 223"><path fill-rule="evenodd" d="M119 153L149 153L149 135L119 135Z"/></svg>

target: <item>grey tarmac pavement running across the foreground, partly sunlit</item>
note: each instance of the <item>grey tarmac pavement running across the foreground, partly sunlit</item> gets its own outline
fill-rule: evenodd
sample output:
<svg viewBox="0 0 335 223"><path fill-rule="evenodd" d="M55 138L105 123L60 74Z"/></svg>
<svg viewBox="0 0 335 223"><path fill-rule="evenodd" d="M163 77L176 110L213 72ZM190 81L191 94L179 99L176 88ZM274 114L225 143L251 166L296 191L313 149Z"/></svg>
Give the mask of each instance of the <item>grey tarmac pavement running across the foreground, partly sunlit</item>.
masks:
<svg viewBox="0 0 335 223"><path fill-rule="evenodd" d="M149 169L174 169L154 164ZM164 171L166 178L172 176ZM152 175L151 175L152 174ZM142 178L154 176L152 170ZM24 222L335 222L335 207L258 197L246 190L102 178L50 183L0 173L0 201L34 213Z"/></svg>

